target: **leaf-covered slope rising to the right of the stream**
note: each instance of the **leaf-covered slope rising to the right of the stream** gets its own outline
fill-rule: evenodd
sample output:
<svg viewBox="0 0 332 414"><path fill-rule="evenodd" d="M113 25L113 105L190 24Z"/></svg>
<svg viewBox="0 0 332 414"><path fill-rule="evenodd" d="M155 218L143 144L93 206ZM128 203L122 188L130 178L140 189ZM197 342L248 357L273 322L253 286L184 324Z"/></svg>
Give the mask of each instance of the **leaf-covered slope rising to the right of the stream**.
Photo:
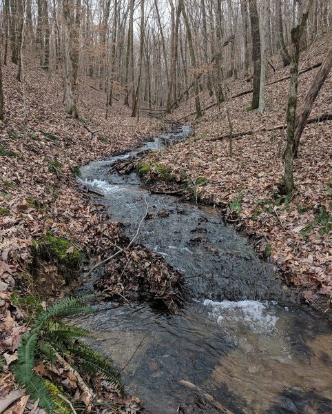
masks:
<svg viewBox="0 0 332 414"><path fill-rule="evenodd" d="M302 55L301 69L315 65L324 58L326 45L310 48ZM281 59L273 59L273 72L269 66L267 83L289 75L282 68ZM300 103L315 77L317 68L300 75L298 102ZM214 106L195 120L192 114L194 99L183 103L174 112L174 120L191 121L194 137L161 155L147 157L172 170L174 176L186 172L192 181L205 177L207 184L200 187L200 199L227 208L227 217L236 221L238 228L256 236L256 248L275 263L287 280L302 288L304 297L313 303L332 294L332 121L310 124L305 128L299 157L295 159L295 193L280 193L284 170L282 152L286 130L269 132L262 128L284 125L289 92L289 80L267 86L267 110L262 115L247 108L251 94L231 98L249 90L245 79L227 81L229 100L220 107ZM311 117L332 113L332 75L326 80ZM202 96L202 107L207 108L213 99ZM229 156L229 117L234 137L233 155ZM255 132L256 131L256 132ZM314 295L318 293L321 295ZM326 300L325 300L326 299Z"/></svg>

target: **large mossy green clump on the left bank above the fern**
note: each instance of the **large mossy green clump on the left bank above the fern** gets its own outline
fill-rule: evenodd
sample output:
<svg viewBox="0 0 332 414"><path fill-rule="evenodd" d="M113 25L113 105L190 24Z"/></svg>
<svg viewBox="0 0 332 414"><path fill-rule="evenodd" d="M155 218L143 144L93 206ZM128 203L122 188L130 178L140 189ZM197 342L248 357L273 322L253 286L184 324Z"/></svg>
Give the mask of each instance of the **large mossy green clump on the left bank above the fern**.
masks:
<svg viewBox="0 0 332 414"><path fill-rule="evenodd" d="M83 253L68 239L48 233L33 243L34 260L42 259L56 266L65 282L78 275L83 264Z"/></svg>

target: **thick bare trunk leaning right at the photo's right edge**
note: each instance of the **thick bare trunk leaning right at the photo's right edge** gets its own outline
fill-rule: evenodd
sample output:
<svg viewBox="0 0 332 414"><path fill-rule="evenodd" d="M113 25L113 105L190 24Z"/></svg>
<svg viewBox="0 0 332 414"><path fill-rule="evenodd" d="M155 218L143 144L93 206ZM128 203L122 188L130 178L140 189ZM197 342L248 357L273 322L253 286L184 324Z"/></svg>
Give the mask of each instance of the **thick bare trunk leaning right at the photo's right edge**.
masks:
<svg viewBox="0 0 332 414"><path fill-rule="evenodd" d="M294 156L298 156L298 146L300 144L300 138L304 127L307 124L307 120L309 118L311 109L313 107L313 103L315 102L316 97L318 96L322 86L324 85L324 81L329 76L329 72L332 68L332 47L330 48L329 52L327 53L322 66L318 70L315 79L311 83L310 89L307 92L306 97L302 101L302 105L299 108L298 115L295 120L295 137L294 137L294 146L293 152Z"/></svg>

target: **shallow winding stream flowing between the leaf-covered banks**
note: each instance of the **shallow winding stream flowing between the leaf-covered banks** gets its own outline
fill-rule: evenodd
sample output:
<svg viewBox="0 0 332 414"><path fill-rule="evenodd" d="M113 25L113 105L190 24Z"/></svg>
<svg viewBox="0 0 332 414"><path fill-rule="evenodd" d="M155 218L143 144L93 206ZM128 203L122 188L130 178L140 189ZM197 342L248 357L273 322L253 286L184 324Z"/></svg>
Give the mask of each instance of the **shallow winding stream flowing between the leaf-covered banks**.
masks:
<svg viewBox="0 0 332 414"><path fill-rule="evenodd" d="M154 414L176 414L179 406L188 414L330 414L331 317L296 304L273 266L218 210L150 194L136 174L110 172L117 161L161 150L165 140L182 141L189 133L182 126L125 155L87 164L80 181L104 195L96 202L112 221L127 224L128 237L148 206L155 218L143 221L136 243L183 273L191 299L179 315L149 303L96 303L96 313L73 322L92 331L96 351L125 367L127 391ZM158 215L165 210L168 215ZM97 275L81 290L91 290Z"/></svg>

